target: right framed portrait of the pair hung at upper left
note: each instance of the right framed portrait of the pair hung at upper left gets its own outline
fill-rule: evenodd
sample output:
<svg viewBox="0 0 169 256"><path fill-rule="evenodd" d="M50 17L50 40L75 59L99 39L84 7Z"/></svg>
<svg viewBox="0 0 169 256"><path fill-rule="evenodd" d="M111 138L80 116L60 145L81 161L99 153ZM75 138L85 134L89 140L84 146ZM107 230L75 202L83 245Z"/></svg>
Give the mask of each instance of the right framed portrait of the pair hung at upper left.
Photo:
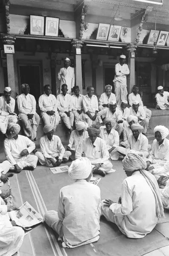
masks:
<svg viewBox="0 0 169 256"><path fill-rule="evenodd" d="M45 35L58 36L59 18L46 17Z"/></svg>

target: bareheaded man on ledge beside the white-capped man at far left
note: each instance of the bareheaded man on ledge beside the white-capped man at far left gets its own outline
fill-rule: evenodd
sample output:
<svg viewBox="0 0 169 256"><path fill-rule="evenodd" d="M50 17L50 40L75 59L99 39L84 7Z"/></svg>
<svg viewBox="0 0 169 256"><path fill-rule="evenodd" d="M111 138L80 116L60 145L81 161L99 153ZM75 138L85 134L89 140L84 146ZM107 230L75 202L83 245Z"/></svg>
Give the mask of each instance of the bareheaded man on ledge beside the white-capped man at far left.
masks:
<svg viewBox="0 0 169 256"><path fill-rule="evenodd" d="M40 117L36 113L36 101L33 95L29 94L30 88L28 84L21 85L22 94L17 98L19 111L19 119L23 124L23 131L31 140L36 140L37 127Z"/></svg>

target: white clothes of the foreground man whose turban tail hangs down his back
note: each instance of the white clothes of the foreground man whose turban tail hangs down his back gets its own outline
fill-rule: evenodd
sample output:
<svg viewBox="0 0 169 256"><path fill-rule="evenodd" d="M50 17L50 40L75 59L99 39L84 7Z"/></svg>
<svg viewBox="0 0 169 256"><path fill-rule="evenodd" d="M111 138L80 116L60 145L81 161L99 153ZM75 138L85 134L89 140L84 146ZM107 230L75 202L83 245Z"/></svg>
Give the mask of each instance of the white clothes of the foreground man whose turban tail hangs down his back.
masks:
<svg viewBox="0 0 169 256"><path fill-rule="evenodd" d="M156 202L152 189L139 171L123 181L121 200L121 204L113 203L110 207L103 206L102 201L106 219L115 223L129 238L142 238L149 234L158 222Z"/></svg>

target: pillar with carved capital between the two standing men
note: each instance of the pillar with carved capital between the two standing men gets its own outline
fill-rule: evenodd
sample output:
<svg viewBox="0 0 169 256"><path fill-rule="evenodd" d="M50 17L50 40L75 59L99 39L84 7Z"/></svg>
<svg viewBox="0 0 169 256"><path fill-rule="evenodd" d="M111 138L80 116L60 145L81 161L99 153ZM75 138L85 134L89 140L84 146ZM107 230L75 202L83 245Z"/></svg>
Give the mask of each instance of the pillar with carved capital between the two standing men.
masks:
<svg viewBox="0 0 169 256"><path fill-rule="evenodd" d="M79 86L80 93L83 93L82 87L82 57L81 57L81 47L83 46L83 42L80 40L73 40L72 46L75 48L75 84Z"/></svg>

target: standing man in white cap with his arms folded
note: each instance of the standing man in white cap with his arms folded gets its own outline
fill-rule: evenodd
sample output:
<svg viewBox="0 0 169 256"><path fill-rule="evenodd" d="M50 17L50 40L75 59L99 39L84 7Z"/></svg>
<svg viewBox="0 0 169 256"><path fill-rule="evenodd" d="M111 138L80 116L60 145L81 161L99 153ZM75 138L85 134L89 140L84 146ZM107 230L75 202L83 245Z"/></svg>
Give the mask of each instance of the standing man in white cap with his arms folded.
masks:
<svg viewBox="0 0 169 256"><path fill-rule="evenodd" d="M115 65L115 79L113 80L115 86L115 96L117 104L120 105L123 99L127 100L127 79L129 75L129 67L126 62L126 56L120 55L120 63Z"/></svg>

